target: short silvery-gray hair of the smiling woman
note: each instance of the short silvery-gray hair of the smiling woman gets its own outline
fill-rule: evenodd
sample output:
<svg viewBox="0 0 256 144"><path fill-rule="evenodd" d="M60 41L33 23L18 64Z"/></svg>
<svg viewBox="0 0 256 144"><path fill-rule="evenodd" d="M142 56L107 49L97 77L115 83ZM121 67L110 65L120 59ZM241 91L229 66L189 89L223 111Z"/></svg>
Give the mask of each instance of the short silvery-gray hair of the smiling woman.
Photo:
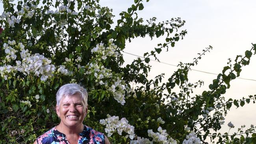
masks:
<svg viewBox="0 0 256 144"><path fill-rule="evenodd" d="M68 83L59 88L56 94L57 105L59 106L59 103L63 97L72 96L74 94L80 94L83 100L83 104L85 104L85 107L87 107L87 99L88 99L87 91L85 88L83 88L82 86L76 83Z"/></svg>

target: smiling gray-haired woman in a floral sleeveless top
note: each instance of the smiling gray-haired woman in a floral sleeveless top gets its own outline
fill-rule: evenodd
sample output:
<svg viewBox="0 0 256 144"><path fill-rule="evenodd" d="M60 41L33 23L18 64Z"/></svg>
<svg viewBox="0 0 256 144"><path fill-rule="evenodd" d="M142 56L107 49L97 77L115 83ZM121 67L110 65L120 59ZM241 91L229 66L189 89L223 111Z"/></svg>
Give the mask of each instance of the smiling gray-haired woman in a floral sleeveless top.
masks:
<svg viewBox="0 0 256 144"><path fill-rule="evenodd" d="M34 144L110 144L108 138L83 125L88 111L87 92L78 84L59 88L56 94L56 113L61 122L40 137Z"/></svg>

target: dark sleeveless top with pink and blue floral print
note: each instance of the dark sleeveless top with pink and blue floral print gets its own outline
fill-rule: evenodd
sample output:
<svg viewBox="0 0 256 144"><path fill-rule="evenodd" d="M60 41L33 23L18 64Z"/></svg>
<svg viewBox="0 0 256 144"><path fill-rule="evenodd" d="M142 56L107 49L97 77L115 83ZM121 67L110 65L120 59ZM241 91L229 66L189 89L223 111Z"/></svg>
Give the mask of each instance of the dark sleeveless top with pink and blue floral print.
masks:
<svg viewBox="0 0 256 144"><path fill-rule="evenodd" d="M78 144L105 144L103 133L95 131L91 127L84 126L82 133L79 134ZM38 144L69 144L66 135L53 127L37 138Z"/></svg>

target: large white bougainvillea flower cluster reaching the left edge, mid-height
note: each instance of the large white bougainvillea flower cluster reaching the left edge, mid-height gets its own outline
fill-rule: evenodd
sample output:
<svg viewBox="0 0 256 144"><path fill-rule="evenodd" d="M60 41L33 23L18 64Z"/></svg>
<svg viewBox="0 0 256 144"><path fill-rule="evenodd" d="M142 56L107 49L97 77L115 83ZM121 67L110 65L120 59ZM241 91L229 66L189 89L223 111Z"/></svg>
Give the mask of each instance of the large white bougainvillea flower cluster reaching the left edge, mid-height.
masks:
<svg viewBox="0 0 256 144"><path fill-rule="evenodd" d="M44 57L44 55L30 54L31 52L29 52L28 49L25 50L25 46L21 42L16 44L15 41L8 41L8 44L4 43L3 46L6 53L6 59L2 61L5 65L0 66L0 75L2 78L8 79L10 74L15 76L17 71L22 72L25 75L32 73L35 76L41 76L41 81L46 81L46 79L54 75L56 66L52 65L52 61ZM6 65L6 63L17 58L16 53L18 50L15 50L11 46L20 50L20 57L22 59L22 61L15 61L15 66ZM58 66L57 71L64 75L72 73L65 69L65 66L63 65Z"/></svg>

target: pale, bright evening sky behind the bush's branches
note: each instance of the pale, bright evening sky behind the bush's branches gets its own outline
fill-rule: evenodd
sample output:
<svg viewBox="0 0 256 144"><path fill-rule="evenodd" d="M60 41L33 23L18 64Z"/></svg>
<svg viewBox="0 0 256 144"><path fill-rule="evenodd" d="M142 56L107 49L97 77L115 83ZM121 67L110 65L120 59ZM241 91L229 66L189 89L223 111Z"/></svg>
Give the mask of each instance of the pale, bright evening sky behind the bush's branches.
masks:
<svg viewBox="0 0 256 144"><path fill-rule="evenodd" d="M100 0L101 6L113 9L113 14L116 16L114 21L120 18L121 11L126 11L133 3L134 0ZM178 41L174 48L170 46L168 52L158 55L161 62L172 65L178 65L180 61L190 63L198 53L211 45L213 50L204 55L193 69L219 74L226 66L228 58L234 60L236 55L244 55L244 52L251 48L251 43L256 43L255 0L150 0L143 4L144 9L138 11L138 15L144 20L157 17L156 23L158 23L180 17L186 21L180 30L187 30L187 35L183 40ZM0 7L2 7L2 3L0 3ZM2 9L0 12L2 13ZM148 37L135 38L132 42L126 42L124 52L143 56L145 52L154 50L158 43L164 41L165 37L153 40ZM125 64L131 63L136 58L124 53ZM165 77L168 79L177 69L175 66L154 61L150 61L150 65L152 68L149 78L165 73ZM242 68L240 77L256 80L255 65L256 56L253 55L250 65ZM188 78L191 83L198 80L204 81L204 86L194 91L194 94L202 94L203 90L209 90L208 85L217 76L191 71ZM230 85L230 89L224 94L226 100L228 98L240 99L256 94L256 81L235 79L231 81ZM256 126L254 109L256 109L256 105L252 103L238 109L233 107L225 117L225 124L220 132L228 131L228 122L234 124L235 130L243 124L247 127L250 127L250 124ZM233 131L230 130L230 132Z"/></svg>

